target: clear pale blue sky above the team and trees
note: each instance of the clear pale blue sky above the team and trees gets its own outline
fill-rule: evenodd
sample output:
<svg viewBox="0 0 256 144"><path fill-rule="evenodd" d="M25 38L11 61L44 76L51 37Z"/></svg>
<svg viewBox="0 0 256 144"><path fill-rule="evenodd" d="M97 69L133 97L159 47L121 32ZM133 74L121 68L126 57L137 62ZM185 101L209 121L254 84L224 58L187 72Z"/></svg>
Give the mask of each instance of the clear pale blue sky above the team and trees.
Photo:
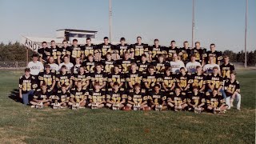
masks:
<svg viewBox="0 0 256 144"><path fill-rule="evenodd" d="M54 38L55 30L97 30L109 36L108 0L0 0L0 42L21 35ZM247 50L256 50L256 0L249 0ZM192 0L112 0L113 38L129 43L191 44ZM195 0L194 42L209 49L244 49L246 0Z"/></svg>

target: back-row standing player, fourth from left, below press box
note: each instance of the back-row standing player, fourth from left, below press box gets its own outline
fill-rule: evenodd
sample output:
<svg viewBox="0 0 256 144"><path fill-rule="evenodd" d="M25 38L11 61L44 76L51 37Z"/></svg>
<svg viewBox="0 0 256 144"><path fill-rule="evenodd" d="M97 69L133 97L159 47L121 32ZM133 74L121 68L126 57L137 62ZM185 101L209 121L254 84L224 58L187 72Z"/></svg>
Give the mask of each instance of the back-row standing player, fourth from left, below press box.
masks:
<svg viewBox="0 0 256 144"><path fill-rule="evenodd" d="M75 63L75 58L81 58L83 51L81 46L78 45L78 40L77 39L73 39L73 45L70 46L69 48L69 53L70 53L70 62L72 62L73 64ZM65 58L64 58L64 62L65 62Z"/></svg>

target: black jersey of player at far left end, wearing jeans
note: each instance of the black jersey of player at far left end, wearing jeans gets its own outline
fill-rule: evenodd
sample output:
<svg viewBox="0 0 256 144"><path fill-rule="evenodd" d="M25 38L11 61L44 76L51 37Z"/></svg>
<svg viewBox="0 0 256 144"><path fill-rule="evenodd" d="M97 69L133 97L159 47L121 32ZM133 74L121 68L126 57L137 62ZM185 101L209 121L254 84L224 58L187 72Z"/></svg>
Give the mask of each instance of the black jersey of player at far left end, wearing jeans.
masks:
<svg viewBox="0 0 256 144"><path fill-rule="evenodd" d="M22 89L22 94L28 93L30 90L34 90L38 87L34 76L30 75L26 78L25 75L19 78L19 89Z"/></svg>

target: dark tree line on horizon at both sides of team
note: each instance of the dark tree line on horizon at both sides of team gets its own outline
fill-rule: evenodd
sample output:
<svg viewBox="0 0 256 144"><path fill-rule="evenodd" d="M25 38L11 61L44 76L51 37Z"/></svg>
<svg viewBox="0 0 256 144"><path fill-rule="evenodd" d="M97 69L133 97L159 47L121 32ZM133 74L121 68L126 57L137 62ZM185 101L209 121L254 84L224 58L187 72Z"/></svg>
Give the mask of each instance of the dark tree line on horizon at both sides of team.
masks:
<svg viewBox="0 0 256 144"><path fill-rule="evenodd" d="M222 51L223 55L230 57L230 62L245 62L245 52L243 50L235 53L232 50ZM29 60L33 51L29 49ZM0 61L1 62L26 62L26 46L19 42L0 43ZM255 66L256 50L247 51L247 65Z"/></svg>

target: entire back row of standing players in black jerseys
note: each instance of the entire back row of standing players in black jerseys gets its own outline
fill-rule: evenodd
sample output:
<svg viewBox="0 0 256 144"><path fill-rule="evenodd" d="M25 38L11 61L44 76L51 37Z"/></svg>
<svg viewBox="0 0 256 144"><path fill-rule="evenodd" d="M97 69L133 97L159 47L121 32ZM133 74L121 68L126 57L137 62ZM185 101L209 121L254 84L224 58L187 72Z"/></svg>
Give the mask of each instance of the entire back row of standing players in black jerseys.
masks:
<svg viewBox="0 0 256 144"><path fill-rule="evenodd" d="M200 46L200 42L195 42L195 47L190 48L189 42L183 42L183 47L178 48L175 41L170 42L170 46L160 46L159 40L154 40L154 45L149 46L148 44L142 43L142 38L138 37L135 44L128 45L125 38L120 39L120 44L112 45L109 42L109 38L105 37L104 42L99 45L91 43L90 38L86 38L86 45L78 45L78 40L74 39L72 46L68 46L68 42L64 40L62 47L56 46L53 41L50 42L50 47L47 47L46 42L42 42L42 48L38 49L40 55L40 62L47 62L52 56L56 63L61 64L64 62L64 56L67 54L70 57L70 62L75 63L75 58L82 58L85 60L89 54L92 54L95 61L101 61L106 59L106 54L110 53L112 59L118 60L125 57L125 53L130 53L130 58L134 60L141 60L142 54L146 54L148 62L154 62L158 60L158 55L163 54L167 61L173 60L173 54L178 54L179 59L186 63L190 61L190 56L195 55L197 62L200 62L202 66L209 63L208 58L214 57L214 63L220 65L222 61L222 52L215 50L215 45L210 44L210 50L207 51L205 48Z"/></svg>

